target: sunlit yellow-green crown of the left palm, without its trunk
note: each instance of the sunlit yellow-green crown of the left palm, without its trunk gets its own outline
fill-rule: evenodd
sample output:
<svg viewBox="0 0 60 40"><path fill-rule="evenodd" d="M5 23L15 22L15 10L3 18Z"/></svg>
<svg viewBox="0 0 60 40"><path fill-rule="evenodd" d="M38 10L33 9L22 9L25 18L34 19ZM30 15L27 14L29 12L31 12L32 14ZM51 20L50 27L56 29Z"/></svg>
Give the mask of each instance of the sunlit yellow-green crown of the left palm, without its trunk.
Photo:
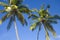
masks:
<svg viewBox="0 0 60 40"><path fill-rule="evenodd" d="M15 16L16 16L23 25L25 23L27 25L27 22L24 19L22 13L24 12L24 13L29 14L31 11L29 10L29 8L27 8L27 6L22 5L21 4L22 2L23 2L23 0L9 0L9 4L0 2L0 5L4 6L4 10L0 10L0 13L7 12L7 14L2 17L0 23L4 22L8 18L10 18L10 20L11 20L11 17L14 16L14 18L15 18ZM19 3L20 3L20 5L18 5ZM11 25L11 22L9 24Z"/></svg>

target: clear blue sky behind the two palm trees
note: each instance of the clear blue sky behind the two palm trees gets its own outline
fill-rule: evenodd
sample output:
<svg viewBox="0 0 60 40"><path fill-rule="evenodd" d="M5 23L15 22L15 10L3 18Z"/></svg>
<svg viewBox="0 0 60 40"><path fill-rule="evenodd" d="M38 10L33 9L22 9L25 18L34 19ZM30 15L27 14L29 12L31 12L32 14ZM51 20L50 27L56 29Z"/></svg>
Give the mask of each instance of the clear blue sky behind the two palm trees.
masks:
<svg viewBox="0 0 60 40"><path fill-rule="evenodd" d="M5 0L0 0L0 1L4 1ZM7 2L7 0L6 0ZM45 4L46 6L48 4L51 5L51 8L49 9L49 12L51 15L55 15L58 14L60 15L60 0L24 0L23 4L28 5L28 7L30 9L33 8L37 8L40 9L40 6L42 4ZM0 9L3 9L3 7L0 6ZM27 19L28 16L24 15L25 18ZM0 14L0 18L2 17L2 14ZM14 24L12 24L11 29L7 32L6 27L8 24L9 20L6 20L2 25L0 25L0 40L16 40L16 35L15 35L15 29L14 29ZM18 32L19 32L19 37L21 40L36 40L36 34L37 34L37 30L35 31L31 31L29 29L30 27L30 19L27 20L28 21L28 26L22 26L21 23L19 23L19 21L17 21L17 26L18 26ZM50 39L51 40L60 40L60 21L58 20L58 24L53 24L53 28L55 29L56 33L57 33L57 38L54 39L54 37L52 36L52 34L50 33ZM40 31L40 35L39 35L39 40L45 40L45 32L44 32L44 28L42 26L42 29Z"/></svg>

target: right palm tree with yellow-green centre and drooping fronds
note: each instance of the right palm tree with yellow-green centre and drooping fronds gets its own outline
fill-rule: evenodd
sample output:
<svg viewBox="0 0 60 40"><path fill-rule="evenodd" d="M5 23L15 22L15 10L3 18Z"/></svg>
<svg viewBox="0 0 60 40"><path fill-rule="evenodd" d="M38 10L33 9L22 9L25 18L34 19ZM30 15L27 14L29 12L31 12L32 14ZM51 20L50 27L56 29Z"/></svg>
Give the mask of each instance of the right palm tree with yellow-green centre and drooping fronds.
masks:
<svg viewBox="0 0 60 40"><path fill-rule="evenodd" d="M39 39L39 31L41 30L41 25L44 26L45 32L46 32L46 40L50 40L49 33L50 31L54 37L56 37L56 32L52 27L52 23L57 24L57 19L60 19L60 16L54 15L51 16L48 12L48 8L50 6L48 5L46 9L44 9L44 5L41 7L40 10L34 9L33 11L37 12L39 16L32 14L29 16L29 18L32 18L32 20L35 20L34 23L30 26L30 30L34 31L38 27L38 33L37 33L37 40Z"/></svg>

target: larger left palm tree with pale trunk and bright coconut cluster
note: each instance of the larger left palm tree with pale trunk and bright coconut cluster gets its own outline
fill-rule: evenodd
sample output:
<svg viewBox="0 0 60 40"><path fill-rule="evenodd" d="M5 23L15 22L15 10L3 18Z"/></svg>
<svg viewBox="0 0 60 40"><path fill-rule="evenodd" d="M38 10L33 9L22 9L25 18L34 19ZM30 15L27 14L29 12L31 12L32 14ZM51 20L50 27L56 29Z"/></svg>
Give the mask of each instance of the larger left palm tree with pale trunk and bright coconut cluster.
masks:
<svg viewBox="0 0 60 40"><path fill-rule="evenodd" d="M18 29L17 29L15 18L17 17L22 25L27 24L22 13L29 14L31 11L29 10L27 6L22 4L23 0L9 0L8 2L9 2L8 4L4 2L0 2L0 5L4 6L4 10L0 10L0 14L1 13L3 14L4 12L7 13L0 20L0 24L3 23L6 19L10 19L8 26L7 26L7 30L9 30L11 28L12 22L14 22L14 25L15 25L14 28L16 31L17 40L20 40L18 36Z"/></svg>

